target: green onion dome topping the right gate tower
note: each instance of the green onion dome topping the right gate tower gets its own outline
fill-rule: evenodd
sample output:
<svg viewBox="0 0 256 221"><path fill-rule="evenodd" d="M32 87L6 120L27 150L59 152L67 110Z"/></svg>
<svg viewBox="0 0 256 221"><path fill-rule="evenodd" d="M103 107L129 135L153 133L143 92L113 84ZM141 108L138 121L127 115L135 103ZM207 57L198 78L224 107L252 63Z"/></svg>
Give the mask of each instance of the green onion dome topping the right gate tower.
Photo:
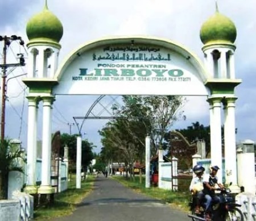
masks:
<svg viewBox="0 0 256 221"><path fill-rule="evenodd" d="M200 30L200 39L204 45L233 44L237 37L237 29L232 20L216 12L211 16Z"/></svg>

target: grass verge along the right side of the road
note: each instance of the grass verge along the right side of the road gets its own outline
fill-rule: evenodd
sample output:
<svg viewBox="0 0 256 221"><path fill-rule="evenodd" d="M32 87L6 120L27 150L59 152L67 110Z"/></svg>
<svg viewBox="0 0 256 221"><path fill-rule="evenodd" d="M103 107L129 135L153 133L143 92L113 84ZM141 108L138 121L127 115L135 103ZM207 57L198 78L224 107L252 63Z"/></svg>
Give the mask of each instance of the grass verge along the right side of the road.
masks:
<svg viewBox="0 0 256 221"><path fill-rule="evenodd" d="M169 203L172 207L188 212L188 203L191 198L191 194L188 191L172 191L159 189L158 187L145 187L145 179L143 177L142 184L139 183L139 177L135 176L134 179L126 178L123 176L112 176L114 180L121 182L121 184L130 187L131 189L145 194L149 197L159 199L165 203ZM184 185L184 184L183 184Z"/></svg>

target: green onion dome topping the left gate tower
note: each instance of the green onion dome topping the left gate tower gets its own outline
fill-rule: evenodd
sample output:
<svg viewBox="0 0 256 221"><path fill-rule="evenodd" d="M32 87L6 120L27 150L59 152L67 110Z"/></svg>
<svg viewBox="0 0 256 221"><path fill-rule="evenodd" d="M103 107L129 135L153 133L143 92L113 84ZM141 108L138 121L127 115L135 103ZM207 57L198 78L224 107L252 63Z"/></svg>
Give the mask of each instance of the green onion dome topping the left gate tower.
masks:
<svg viewBox="0 0 256 221"><path fill-rule="evenodd" d="M27 23L27 37L30 43L59 43L63 36L63 26L60 20L48 10L47 4L42 12L32 16Z"/></svg>

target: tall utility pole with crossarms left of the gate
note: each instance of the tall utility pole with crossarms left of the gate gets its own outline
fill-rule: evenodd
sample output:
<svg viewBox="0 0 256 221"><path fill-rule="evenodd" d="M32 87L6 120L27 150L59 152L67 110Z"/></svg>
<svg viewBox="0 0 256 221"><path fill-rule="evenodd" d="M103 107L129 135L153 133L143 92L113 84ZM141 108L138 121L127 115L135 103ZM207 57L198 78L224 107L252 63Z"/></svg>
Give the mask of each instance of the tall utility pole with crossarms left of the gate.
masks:
<svg viewBox="0 0 256 221"><path fill-rule="evenodd" d="M6 64L6 53L7 48L10 46L11 41L19 40L20 45L24 45L24 41L21 37L18 37L16 35L12 35L11 37L1 36L0 35L0 41L3 41L3 64L0 65L2 68L2 111L1 111L1 141L5 139L5 102L6 102L6 78L7 78L7 68L10 66L16 67L16 66L24 66L24 57L23 54L18 54L19 57L19 63L15 64Z"/></svg>

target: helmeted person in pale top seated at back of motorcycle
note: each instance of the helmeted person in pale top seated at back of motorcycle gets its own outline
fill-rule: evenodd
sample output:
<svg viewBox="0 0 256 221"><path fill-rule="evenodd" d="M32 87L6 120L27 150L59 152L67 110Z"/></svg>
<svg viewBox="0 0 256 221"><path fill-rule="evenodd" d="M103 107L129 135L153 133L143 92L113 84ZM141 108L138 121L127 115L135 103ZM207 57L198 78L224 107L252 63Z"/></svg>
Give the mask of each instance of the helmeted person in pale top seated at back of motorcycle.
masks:
<svg viewBox="0 0 256 221"><path fill-rule="evenodd" d="M204 167L201 165L195 165L193 167L193 172L196 174L196 177L193 177L191 180L191 184L189 186L189 190L193 195L195 195L196 207L195 207L195 214L200 214L200 204L202 199L204 198L203 193L203 173Z"/></svg>

